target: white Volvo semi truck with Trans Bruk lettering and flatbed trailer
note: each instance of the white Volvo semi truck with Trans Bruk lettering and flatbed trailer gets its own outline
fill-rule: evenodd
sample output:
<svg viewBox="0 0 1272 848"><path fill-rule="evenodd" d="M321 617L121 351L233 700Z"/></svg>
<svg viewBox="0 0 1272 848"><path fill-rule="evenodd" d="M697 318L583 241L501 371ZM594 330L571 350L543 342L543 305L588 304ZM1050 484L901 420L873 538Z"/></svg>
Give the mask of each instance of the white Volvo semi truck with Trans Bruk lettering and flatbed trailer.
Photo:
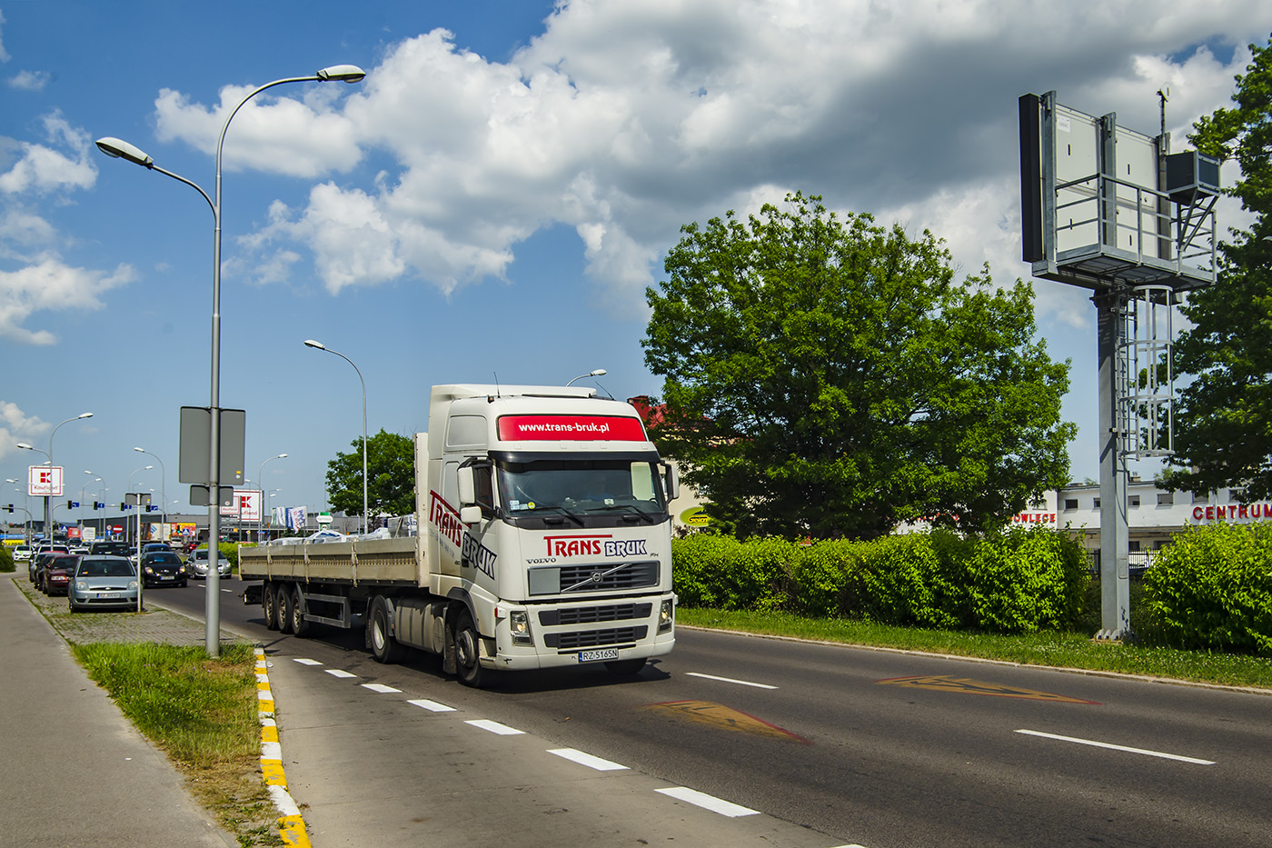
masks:
<svg viewBox="0 0 1272 848"><path fill-rule="evenodd" d="M271 629L365 626L380 662L637 674L675 644L674 467L636 410L595 390L434 386L415 435L417 531L239 551Z"/></svg>

